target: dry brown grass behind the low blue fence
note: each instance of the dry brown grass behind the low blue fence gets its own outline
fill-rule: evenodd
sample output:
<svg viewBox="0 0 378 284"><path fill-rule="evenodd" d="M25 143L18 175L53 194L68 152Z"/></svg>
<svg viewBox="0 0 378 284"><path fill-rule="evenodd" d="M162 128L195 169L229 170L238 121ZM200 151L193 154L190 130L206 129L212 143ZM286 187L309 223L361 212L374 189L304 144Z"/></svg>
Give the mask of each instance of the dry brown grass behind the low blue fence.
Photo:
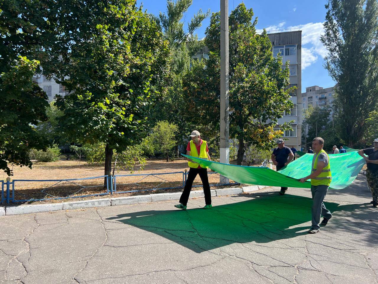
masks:
<svg viewBox="0 0 378 284"><path fill-rule="evenodd" d="M235 164L235 162L231 162ZM138 169L139 167L137 167ZM35 163L33 169L27 167L15 167L14 176L12 180L15 181L15 199L42 199L50 197L67 197L69 195L80 196L105 193L104 178L87 179L81 181L63 181L63 182L29 182L29 181L17 181L19 179L74 179L74 178L89 178L93 176L104 175L104 164L89 164L82 162L79 166L78 161L59 160L49 163ZM152 174L152 173L173 173L184 172L189 170L186 159L177 159L172 162L166 162L162 159L149 159L146 167L142 171L135 171L134 174ZM115 175L130 175L128 171L118 171ZM4 179L6 176L4 177ZM153 192L163 192L159 188L165 187L177 187L182 186L183 174L164 174L156 176L118 176L117 191L128 190L144 190L157 188ZM219 182L219 176L217 174L211 174L209 172L209 183L217 184ZM232 181L230 181L232 182ZM136 185L135 183L138 183ZM194 185L201 185L199 176L194 181ZM82 189L82 186L87 188ZM88 188L88 186L91 186ZM81 189L81 190L80 190ZM201 188L198 188L201 189ZM43 191L42 191L43 190ZM80 190L80 191L79 191ZM164 191L178 191L179 189L164 190ZM135 195L135 194L149 194L151 191L136 192L136 193L124 193L116 194L116 196ZM107 197L107 196L104 196ZM97 197L86 197L99 198ZM71 198L70 198L71 199ZM82 198L79 198L80 200ZM77 200L77 198L75 198ZM46 202L53 202L51 200ZM59 202L59 201L55 201Z"/></svg>

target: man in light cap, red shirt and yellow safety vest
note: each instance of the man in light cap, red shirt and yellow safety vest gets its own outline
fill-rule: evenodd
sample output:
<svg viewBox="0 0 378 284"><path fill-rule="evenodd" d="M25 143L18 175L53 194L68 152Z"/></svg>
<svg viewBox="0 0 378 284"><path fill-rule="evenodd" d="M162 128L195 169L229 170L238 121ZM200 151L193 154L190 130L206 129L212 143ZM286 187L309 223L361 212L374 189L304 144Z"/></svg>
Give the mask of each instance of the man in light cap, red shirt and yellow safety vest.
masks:
<svg viewBox="0 0 378 284"><path fill-rule="evenodd" d="M201 139L200 133L197 130L194 130L189 137L191 137L192 140L188 142L188 145L186 147L186 154L188 156L197 157L197 158L211 161L208 145L205 140ZM192 184L195 177L198 174L200 175L202 185L203 185L203 193L205 195L206 205L204 209L209 209L211 208L211 193L210 193L210 185L209 185L209 179L208 179L208 167L201 166L200 164L197 164L196 162L192 161L189 158L187 160L188 160L188 165L190 167L189 173L186 179L184 191L180 197L180 204L175 205L175 207L186 210L186 204L189 199L189 194L192 190Z"/></svg>

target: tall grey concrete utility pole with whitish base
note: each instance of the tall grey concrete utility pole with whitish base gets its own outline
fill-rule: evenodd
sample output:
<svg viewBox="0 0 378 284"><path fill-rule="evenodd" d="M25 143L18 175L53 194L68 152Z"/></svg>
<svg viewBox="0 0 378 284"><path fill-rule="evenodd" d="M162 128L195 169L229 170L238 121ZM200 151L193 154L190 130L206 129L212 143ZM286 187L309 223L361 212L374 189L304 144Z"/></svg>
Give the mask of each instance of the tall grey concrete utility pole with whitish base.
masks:
<svg viewBox="0 0 378 284"><path fill-rule="evenodd" d="M228 0L220 0L220 162L229 164ZM229 179L220 176L220 183Z"/></svg>

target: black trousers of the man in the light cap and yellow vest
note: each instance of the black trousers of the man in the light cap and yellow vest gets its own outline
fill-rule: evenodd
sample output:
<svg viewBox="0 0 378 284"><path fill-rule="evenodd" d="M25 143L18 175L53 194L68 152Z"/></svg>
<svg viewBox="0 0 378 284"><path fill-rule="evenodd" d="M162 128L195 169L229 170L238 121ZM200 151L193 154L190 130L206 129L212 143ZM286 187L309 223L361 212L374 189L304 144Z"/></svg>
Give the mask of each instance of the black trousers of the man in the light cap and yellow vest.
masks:
<svg viewBox="0 0 378 284"><path fill-rule="evenodd" d="M181 197L180 197L180 203L182 203L184 206L186 206L188 202L190 191L192 190L193 181L195 177L197 176L197 174L200 175L200 178L202 181L203 193L205 194L205 203L206 205L211 204L211 193L210 193L210 185L209 185L209 179L208 179L208 169L190 168L187 179L186 179L183 194L181 194Z"/></svg>

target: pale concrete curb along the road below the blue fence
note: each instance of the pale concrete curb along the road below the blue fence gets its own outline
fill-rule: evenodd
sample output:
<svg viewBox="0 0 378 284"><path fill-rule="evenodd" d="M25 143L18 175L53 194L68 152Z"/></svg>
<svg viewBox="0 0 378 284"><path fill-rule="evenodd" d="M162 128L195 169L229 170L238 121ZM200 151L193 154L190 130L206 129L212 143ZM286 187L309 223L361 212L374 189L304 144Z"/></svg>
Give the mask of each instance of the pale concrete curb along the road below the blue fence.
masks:
<svg viewBox="0 0 378 284"><path fill-rule="evenodd" d="M257 186L252 186L257 187ZM257 189L255 189L257 190ZM221 195L236 195L243 193L243 189L240 187L231 187L224 189L211 189L211 196L221 196ZM20 205L20 206L0 206L0 216L7 215L17 215L17 214L30 214L39 212L51 212L59 210L68 209L80 209L80 208L90 208L90 207L105 207L105 206L116 206L116 205L132 205L138 203L148 203L155 201L167 201L167 200L179 200L182 192L166 192L166 193L156 193L148 195L135 195L126 197L114 197L114 198L104 198L104 199L92 199L92 200L81 200L81 201L69 201L63 203L47 203L47 204L33 204L33 205ZM204 197L203 190L193 190L191 191L189 198Z"/></svg>

